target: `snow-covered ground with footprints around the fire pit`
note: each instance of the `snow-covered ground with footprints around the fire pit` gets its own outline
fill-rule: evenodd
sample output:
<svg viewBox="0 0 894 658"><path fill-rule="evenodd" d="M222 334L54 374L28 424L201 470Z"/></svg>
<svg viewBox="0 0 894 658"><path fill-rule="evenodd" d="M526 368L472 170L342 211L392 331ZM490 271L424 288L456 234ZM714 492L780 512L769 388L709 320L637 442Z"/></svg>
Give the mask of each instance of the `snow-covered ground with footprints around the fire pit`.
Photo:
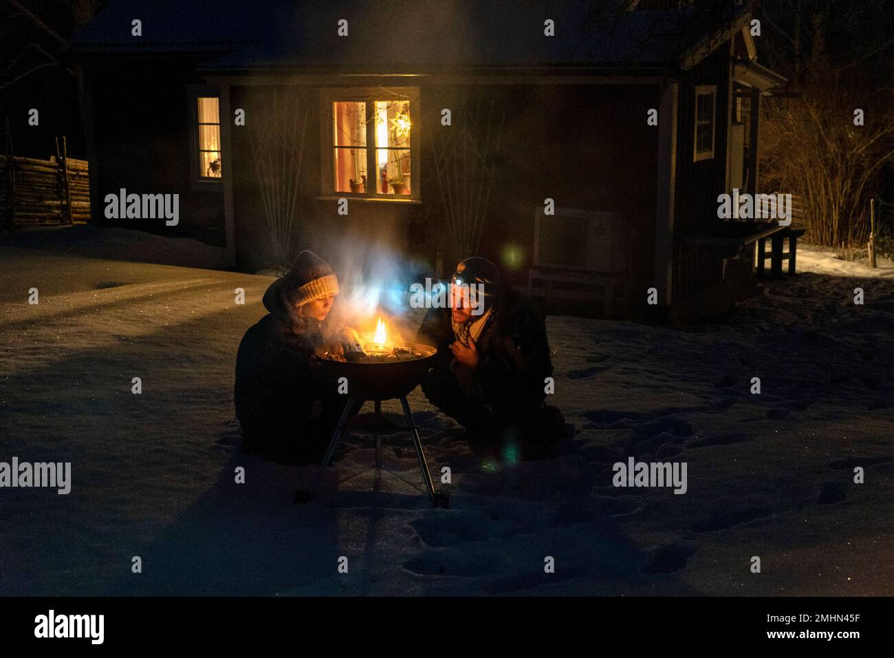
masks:
<svg viewBox="0 0 894 658"><path fill-rule="evenodd" d="M0 244L0 461L72 462L67 496L0 489L0 594L894 594L894 278L798 258L722 324L548 318L561 457L483 470L414 391L444 510L406 434L380 474L351 437L303 506L313 468L240 453L272 278ZM687 492L613 487L631 456L686 461Z"/></svg>

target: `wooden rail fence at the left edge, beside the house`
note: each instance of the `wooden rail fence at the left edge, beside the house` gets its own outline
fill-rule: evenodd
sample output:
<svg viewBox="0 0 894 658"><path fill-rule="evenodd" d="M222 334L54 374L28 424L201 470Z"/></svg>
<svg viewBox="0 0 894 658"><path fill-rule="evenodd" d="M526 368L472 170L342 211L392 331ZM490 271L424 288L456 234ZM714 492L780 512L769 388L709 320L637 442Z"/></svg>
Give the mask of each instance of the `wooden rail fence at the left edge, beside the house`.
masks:
<svg viewBox="0 0 894 658"><path fill-rule="evenodd" d="M0 156L0 226L74 224L89 218L87 160Z"/></svg>

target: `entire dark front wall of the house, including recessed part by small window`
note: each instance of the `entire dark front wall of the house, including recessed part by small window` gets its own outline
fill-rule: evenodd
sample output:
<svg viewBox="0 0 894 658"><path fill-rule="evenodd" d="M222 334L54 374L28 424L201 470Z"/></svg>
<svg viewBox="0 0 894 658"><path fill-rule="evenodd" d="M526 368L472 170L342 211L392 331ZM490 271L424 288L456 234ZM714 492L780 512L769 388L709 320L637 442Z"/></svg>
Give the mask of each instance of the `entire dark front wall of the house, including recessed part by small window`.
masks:
<svg viewBox="0 0 894 658"><path fill-rule="evenodd" d="M189 235L223 246L223 185L221 192L205 192L190 184L189 145L194 135L189 128L187 85L201 82L185 73L190 65L172 60L146 65L103 63L91 68L98 154L96 167L91 167L98 176L95 217L105 223L102 198L122 187L138 193L177 192L181 195L179 226L164 226L163 219L109 223L163 235ZM659 85L531 81L418 87L421 113L414 123L421 139L421 175L415 183L421 186L422 202L350 201L347 217L338 215L337 201L320 198L322 87L230 88L231 110L246 110L245 126L232 125L232 116L222 116L223 122L231 122L231 152L223 153L223 167L232 175L237 269L257 271L286 264L274 258L260 192L261 172L249 140L252 130L274 130L258 111L269 93L288 91L294 113L303 116L307 111L291 252L309 248L332 254L341 252L351 240L379 243L424 261L430 271L439 252L445 270L469 255L457 252L444 225L444 202L434 166L436 131L460 128L456 109L464 102L482 107L493 103L491 127L495 130L502 120L502 140L493 154L495 173L478 253L501 267L507 283L524 286L533 264L535 211L545 199L560 207L618 212L638 234L637 243L630 247L629 290L642 302L642 291L654 278L658 148L658 129L649 126L646 117L649 109L659 107ZM452 126L441 124L444 107L454 111ZM513 258L508 257L510 253Z"/></svg>

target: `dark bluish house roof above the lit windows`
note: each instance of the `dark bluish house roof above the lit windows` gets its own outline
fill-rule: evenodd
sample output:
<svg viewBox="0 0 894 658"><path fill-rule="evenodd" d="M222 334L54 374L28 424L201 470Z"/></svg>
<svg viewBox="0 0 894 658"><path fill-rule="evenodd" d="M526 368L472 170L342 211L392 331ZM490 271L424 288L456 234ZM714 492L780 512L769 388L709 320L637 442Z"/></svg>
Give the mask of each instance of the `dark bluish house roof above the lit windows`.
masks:
<svg viewBox="0 0 894 658"><path fill-rule="evenodd" d="M626 0L111 0L72 38L74 56L207 53L207 73L419 73L462 68L686 68L739 29L744 5L712 14L625 11ZM696 4L696 6L699 6ZM142 37L131 37L131 21ZM337 34L348 21L348 36ZM544 36L551 19L555 36ZM738 26L738 27L737 27ZM726 34L719 34L726 30ZM693 59L692 53L700 53ZM684 55L688 54L686 64Z"/></svg>

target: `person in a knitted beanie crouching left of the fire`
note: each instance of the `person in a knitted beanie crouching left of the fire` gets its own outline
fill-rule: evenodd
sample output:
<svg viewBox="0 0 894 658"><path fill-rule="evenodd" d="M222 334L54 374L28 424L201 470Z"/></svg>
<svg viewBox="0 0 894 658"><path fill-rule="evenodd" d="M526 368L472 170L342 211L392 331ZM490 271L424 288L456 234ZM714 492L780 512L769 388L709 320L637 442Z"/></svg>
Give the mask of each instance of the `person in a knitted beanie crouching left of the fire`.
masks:
<svg viewBox="0 0 894 658"><path fill-rule="evenodd" d="M236 355L243 450L287 463L322 460L345 403L318 378L314 353L338 292L333 269L313 252L299 253L267 288L269 313L245 332Z"/></svg>

